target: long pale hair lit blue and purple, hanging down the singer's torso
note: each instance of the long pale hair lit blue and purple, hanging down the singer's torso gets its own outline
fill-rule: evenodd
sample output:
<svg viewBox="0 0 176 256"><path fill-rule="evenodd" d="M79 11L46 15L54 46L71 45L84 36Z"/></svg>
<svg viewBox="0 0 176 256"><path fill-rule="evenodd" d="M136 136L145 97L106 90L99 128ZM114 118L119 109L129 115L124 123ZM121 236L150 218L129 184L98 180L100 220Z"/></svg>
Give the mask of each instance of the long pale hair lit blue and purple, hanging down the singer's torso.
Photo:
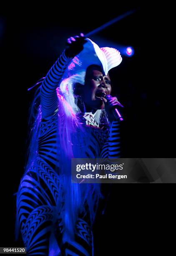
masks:
<svg viewBox="0 0 176 256"><path fill-rule="evenodd" d="M71 183L71 158L81 158L81 152L87 147L86 141L90 133L85 131L80 124L78 101L81 101L80 96L74 94L75 84L79 83L85 86L85 71L74 74L71 77L63 79L57 89L59 99L58 110L58 140L62 150L59 156L61 163L60 177L65 190L65 230L71 236L74 233L75 220L79 212L85 209L83 206L88 205L90 220L93 220L98 207L98 200L101 197L100 184L73 184ZM83 107L84 102L82 101ZM101 125L108 125L108 118L105 110L96 111L96 121ZM86 133L87 140L84 139ZM84 136L83 136L84 135Z"/></svg>

